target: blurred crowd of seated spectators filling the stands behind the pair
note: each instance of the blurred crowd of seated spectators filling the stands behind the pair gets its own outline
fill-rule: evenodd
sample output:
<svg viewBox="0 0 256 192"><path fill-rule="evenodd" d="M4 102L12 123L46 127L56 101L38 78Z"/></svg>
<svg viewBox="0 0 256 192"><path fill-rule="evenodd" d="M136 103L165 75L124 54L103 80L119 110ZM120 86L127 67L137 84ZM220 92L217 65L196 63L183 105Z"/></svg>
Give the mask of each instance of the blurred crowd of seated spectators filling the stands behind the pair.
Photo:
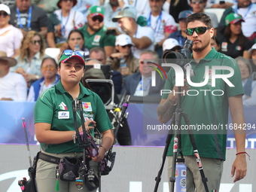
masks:
<svg viewBox="0 0 256 192"><path fill-rule="evenodd" d="M3 0L0 1L0 99L36 101L59 81L63 50L83 50L88 65L111 66L114 92L155 96L157 65L147 59L178 51L186 18L204 12L212 20L211 45L236 59L244 105L256 106L255 0ZM160 64L160 63L157 63ZM104 79L99 67L84 78ZM159 74L157 74L159 75Z"/></svg>

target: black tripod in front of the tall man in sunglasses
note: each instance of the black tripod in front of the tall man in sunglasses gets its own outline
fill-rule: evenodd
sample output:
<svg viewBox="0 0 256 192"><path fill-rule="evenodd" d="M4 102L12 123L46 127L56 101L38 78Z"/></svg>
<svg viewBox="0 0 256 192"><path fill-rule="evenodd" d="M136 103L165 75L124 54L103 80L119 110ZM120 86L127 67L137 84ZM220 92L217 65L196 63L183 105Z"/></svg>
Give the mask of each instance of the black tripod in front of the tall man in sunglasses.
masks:
<svg viewBox="0 0 256 192"><path fill-rule="evenodd" d="M180 149L180 151L182 151L181 147L180 147L181 146L181 142L180 142L181 117L184 118L184 121L187 125L190 124L187 114L184 113L182 108L181 108L181 95L180 95L180 93L181 93L181 87L178 87L178 102L177 102L177 105L178 105L177 107L178 108L175 111L175 113L172 115L172 124L175 121L175 126L178 127L178 129L175 129L174 134L173 134L172 129L169 130L168 136L166 137L166 145L165 145L165 148L164 148L164 151L163 151L162 163L161 163L161 166L160 166L160 170L158 171L157 177L155 178L156 184L155 184L155 187L154 187L154 192L157 192L157 188L158 188L160 180L161 180L161 175L162 175L162 172L163 172L163 166L164 166L164 163L166 161L166 154L167 154L167 151L168 151L168 148L169 148L169 144L172 140L172 136L174 136L173 155L172 155L172 175L169 178L169 181L172 182L170 191L172 191L172 192L174 191L175 169L176 169L176 160L177 160L177 157L178 157L178 149ZM196 145L196 142L195 142L195 139L194 139L193 132L192 132L192 130L188 129L187 133L189 134L190 143L191 143L191 145L193 147L193 150L194 150L194 156L197 159L197 166L198 166L198 169L200 170L200 175L201 175L201 178L202 178L202 181L203 181L203 185L206 189L206 192L209 192L208 186L206 184L206 182L208 180L207 180L207 178L206 178L206 176L204 175L204 172L203 172L203 166L202 166L202 163L201 163L201 160L200 160L199 153L197 151L197 145Z"/></svg>

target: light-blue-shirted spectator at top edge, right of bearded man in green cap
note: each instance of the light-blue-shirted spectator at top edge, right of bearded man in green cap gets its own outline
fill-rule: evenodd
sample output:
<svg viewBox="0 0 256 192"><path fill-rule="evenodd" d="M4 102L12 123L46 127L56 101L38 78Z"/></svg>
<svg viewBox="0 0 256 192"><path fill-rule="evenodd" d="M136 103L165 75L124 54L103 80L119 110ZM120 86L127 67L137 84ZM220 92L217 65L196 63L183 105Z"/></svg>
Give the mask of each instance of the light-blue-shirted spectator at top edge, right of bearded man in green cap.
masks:
<svg viewBox="0 0 256 192"><path fill-rule="evenodd" d="M118 0L100 1L102 8L104 9L104 25L109 28L118 28L118 23L112 21L112 18L117 16L119 11L122 10L118 4ZM111 32L111 29L110 31ZM115 34L113 34L115 35Z"/></svg>

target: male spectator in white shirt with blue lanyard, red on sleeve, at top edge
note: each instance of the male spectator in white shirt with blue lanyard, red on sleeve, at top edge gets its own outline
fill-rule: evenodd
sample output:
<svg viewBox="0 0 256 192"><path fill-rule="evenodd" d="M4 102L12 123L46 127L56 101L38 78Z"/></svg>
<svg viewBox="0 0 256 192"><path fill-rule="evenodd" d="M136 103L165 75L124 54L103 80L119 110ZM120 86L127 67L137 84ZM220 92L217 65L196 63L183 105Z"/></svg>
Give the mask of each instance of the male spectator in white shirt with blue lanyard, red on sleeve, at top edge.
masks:
<svg viewBox="0 0 256 192"><path fill-rule="evenodd" d="M177 30L175 20L166 11L162 11L164 0L149 0L151 13L145 17L148 26L154 30L154 50L161 57L163 54L163 41Z"/></svg>

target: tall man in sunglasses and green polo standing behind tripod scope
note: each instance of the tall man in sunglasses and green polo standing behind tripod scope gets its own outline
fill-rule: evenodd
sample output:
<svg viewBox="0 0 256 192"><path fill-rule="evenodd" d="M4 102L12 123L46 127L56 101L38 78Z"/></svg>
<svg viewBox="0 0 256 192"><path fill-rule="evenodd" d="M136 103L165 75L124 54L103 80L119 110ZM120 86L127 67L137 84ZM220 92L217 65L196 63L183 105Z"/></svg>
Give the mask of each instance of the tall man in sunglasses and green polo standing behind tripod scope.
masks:
<svg viewBox="0 0 256 192"><path fill-rule="evenodd" d="M193 41L192 55L190 65L194 69L195 76L190 77L190 81L194 83L205 82L204 85L195 86L187 83L184 79L184 86L178 92L178 87L175 86L175 70L169 70L168 78L164 86L164 90L172 90L171 93L163 93L160 105L157 107L158 120L160 123L166 123L172 118L172 114L177 109L178 94L181 93L181 108L187 114L190 121L190 126L220 125L225 126L228 122L228 110L233 120L233 125L242 125L245 123L242 95L242 78L239 72L239 66L236 61L230 56L219 53L215 48L211 47L211 38L214 35L212 22L208 15L203 13L191 14L186 20L187 39ZM177 63L178 65L178 63ZM209 67L206 70L206 66ZM214 81L214 67L228 67L232 72L232 77L228 78L227 84L221 78ZM232 70L231 70L232 69ZM223 71L215 70L216 75L222 75ZM227 72L228 73L228 72ZM206 76L209 75L209 78ZM190 91L191 90L191 91ZM210 94L200 93L200 90L208 90ZM221 90L223 94L211 94L211 91ZM190 94L193 91L198 91L197 95ZM185 127L184 122L181 122L181 127ZM182 128L181 128L182 129ZM200 162L203 165L203 172L208 181L206 182L209 191L217 190L221 184L221 174L223 163L226 156L227 145L227 130L192 130L194 139L197 145L197 150L200 155ZM231 176L233 181L239 181L246 175L246 160L245 160L245 130L233 130L236 139L236 160L233 163ZM197 160L194 157L194 151L187 130L181 130L181 149L187 166L187 182L186 190L197 192L205 192L200 170L198 169ZM173 138L170 142L169 149L173 147ZM172 150L167 153L168 176L172 176ZM226 173L225 173L226 174ZM230 174L230 173L228 173ZM169 186L171 182L169 182Z"/></svg>

